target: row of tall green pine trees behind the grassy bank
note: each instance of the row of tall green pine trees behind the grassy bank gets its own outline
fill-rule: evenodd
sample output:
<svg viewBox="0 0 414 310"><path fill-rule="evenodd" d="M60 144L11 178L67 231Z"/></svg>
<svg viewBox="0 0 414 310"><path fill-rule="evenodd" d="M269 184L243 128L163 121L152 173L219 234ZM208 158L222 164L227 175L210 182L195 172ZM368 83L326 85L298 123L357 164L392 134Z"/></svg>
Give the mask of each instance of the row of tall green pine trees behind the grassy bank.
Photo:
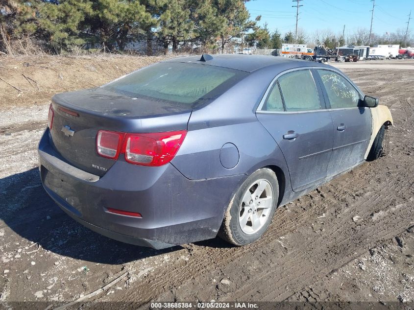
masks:
<svg viewBox="0 0 414 310"><path fill-rule="evenodd" d="M96 46L123 51L130 42L223 52L257 28L246 0L5 0L0 50L35 42L49 52ZM4 0L2 1L4 2ZM19 46L17 46L19 47Z"/></svg>

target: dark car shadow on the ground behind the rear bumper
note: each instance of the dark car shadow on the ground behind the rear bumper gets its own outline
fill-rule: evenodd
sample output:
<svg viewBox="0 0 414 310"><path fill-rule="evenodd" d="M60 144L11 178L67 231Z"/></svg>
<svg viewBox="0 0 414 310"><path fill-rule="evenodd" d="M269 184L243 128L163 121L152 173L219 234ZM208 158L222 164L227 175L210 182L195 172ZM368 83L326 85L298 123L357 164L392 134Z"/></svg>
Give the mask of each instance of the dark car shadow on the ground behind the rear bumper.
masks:
<svg viewBox="0 0 414 310"><path fill-rule="evenodd" d="M0 179L0 219L21 238L73 259L122 264L182 249L163 250L122 243L101 236L66 215L44 191L38 168ZM7 230L7 229L6 229ZM27 241L5 233L4 243ZM30 243L27 243L30 245Z"/></svg>

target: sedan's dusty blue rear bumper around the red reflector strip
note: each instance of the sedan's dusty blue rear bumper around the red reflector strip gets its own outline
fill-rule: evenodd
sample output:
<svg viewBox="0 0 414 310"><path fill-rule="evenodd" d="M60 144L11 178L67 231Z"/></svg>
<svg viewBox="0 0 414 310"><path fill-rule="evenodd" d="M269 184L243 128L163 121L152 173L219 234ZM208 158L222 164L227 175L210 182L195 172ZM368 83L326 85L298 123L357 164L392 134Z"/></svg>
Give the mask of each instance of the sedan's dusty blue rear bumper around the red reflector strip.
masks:
<svg viewBox="0 0 414 310"><path fill-rule="evenodd" d="M49 143L49 130L38 152L42 184L68 215L106 237L157 249L215 238L246 177L192 181L170 164L144 167L122 159L97 177L61 158ZM138 212L143 218L106 208Z"/></svg>

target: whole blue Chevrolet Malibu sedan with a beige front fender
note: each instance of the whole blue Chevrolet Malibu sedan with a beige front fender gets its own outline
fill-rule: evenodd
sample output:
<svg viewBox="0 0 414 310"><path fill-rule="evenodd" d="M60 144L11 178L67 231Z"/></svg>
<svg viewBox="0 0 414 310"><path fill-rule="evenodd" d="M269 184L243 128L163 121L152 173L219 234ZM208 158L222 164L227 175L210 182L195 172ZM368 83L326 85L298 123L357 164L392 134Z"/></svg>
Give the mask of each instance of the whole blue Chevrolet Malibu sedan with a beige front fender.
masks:
<svg viewBox="0 0 414 310"><path fill-rule="evenodd" d="M64 212L109 238L245 245L278 206L379 158L391 124L328 65L180 57L54 95L39 169Z"/></svg>

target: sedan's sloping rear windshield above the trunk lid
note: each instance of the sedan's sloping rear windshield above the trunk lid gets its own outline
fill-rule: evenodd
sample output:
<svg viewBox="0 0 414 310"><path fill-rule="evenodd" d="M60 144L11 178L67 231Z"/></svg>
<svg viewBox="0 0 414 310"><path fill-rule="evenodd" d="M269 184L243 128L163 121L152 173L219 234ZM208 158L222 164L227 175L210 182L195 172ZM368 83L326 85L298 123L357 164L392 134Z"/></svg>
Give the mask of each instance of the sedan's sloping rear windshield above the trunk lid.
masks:
<svg viewBox="0 0 414 310"><path fill-rule="evenodd" d="M217 98L247 74L201 64L162 62L102 87L131 97L145 97L194 108Z"/></svg>

